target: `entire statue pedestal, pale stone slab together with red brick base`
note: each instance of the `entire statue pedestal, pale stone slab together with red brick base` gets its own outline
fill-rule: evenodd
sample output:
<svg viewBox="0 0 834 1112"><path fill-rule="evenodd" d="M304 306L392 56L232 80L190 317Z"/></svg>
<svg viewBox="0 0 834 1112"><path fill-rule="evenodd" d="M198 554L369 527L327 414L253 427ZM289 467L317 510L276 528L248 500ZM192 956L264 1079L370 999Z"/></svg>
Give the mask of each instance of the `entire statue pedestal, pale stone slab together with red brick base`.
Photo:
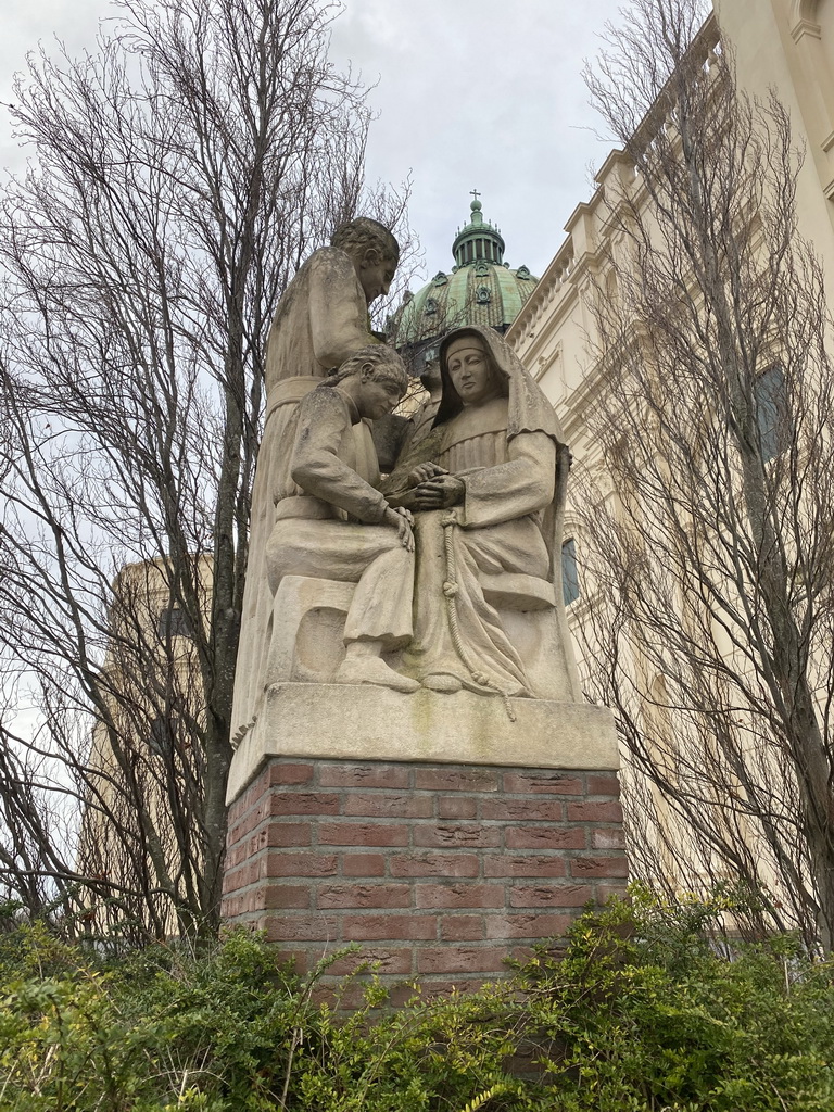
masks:
<svg viewBox="0 0 834 1112"><path fill-rule="evenodd" d="M224 914L301 969L351 942L393 1001L500 975L627 873L608 711L276 684L235 755ZM361 987L340 1001L358 1003ZM354 999L356 997L356 999Z"/></svg>

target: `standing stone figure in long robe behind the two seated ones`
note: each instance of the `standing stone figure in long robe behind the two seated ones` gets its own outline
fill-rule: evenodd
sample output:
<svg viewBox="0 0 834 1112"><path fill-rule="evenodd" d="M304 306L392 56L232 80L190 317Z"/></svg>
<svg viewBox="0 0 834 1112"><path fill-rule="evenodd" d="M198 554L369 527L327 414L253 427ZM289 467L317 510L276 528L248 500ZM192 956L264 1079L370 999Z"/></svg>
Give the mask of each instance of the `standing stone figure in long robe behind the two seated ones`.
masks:
<svg viewBox="0 0 834 1112"><path fill-rule="evenodd" d="M285 431L295 407L331 370L375 341L368 307L388 291L399 245L376 220L359 217L301 266L281 298L267 342L267 415L251 506L249 560L235 677L232 736L252 722L267 659L272 608L266 546L276 522L278 473L288 450ZM355 426L359 456L374 451L364 423Z"/></svg>

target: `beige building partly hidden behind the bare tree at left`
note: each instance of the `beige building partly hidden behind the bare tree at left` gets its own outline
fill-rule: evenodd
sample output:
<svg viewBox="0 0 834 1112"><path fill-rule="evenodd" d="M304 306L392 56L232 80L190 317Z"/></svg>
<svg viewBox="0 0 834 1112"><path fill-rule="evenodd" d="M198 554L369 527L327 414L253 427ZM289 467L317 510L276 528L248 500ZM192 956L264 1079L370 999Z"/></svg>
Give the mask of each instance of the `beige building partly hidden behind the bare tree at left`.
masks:
<svg viewBox="0 0 834 1112"><path fill-rule="evenodd" d="M210 558L195 560L207 615ZM112 584L78 858L82 875L112 886L109 902L90 912L102 932L111 915L132 913L160 935L178 933L180 885L201 867L200 832L185 816L205 697L190 620L172 600L169 574L162 560L142 560Z"/></svg>

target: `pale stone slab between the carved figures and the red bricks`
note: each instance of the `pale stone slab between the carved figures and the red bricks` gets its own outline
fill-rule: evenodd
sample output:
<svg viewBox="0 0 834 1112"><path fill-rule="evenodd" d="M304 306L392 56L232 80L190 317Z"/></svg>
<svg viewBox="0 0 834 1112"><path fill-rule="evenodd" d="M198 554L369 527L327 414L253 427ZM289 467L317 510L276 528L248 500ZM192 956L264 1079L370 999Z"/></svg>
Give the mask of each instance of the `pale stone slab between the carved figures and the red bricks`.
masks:
<svg viewBox="0 0 834 1112"><path fill-rule="evenodd" d="M227 803L274 756L429 761L534 768L619 767L610 712L587 703L509 699L370 684L281 683L268 688L231 764Z"/></svg>

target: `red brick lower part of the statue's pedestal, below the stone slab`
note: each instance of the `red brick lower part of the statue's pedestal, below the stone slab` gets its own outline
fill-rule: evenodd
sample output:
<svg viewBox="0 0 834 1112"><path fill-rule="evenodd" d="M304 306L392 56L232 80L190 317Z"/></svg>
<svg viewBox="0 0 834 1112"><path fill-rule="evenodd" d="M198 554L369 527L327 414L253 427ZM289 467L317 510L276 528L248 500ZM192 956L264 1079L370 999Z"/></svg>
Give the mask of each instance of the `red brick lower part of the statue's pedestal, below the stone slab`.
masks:
<svg viewBox="0 0 834 1112"><path fill-rule="evenodd" d="M274 757L230 810L224 914L301 969L358 942L391 985L477 984L623 890L617 795L614 773Z"/></svg>

